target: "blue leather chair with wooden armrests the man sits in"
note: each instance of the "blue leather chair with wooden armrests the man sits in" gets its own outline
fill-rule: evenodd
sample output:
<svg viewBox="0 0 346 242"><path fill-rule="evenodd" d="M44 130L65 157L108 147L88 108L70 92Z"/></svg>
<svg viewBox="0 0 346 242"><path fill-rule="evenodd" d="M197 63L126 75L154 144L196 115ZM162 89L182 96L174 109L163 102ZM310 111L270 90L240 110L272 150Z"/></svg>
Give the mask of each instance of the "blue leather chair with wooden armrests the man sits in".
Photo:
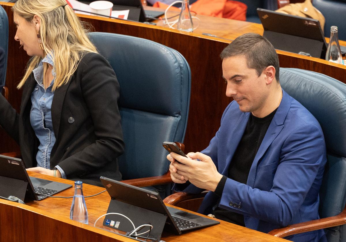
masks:
<svg viewBox="0 0 346 242"><path fill-rule="evenodd" d="M295 68L280 68L280 84L320 123L328 160L320 189L319 214L322 219L293 224L269 234L284 238L326 229L328 242L346 241L346 84L320 73ZM166 197L164 202L197 211L196 199L201 202L205 194L179 192Z"/></svg>

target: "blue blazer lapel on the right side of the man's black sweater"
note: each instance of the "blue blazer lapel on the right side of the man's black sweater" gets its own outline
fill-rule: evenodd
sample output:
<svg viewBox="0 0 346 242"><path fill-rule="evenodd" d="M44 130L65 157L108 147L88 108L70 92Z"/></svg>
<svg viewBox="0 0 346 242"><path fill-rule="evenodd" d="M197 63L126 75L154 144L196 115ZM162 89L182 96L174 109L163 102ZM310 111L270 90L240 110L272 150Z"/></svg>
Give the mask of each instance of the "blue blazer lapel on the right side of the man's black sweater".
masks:
<svg viewBox="0 0 346 242"><path fill-rule="evenodd" d="M247 178L247 183L246 183L247 185L251 187L253 187L255 184L258 161L262 158L262 156L264 155L268 147L271 145L273 140L277 137L277 135L283 129L284 127L283 123L285 121L288 111L290 110L291 101L292 100L290 96L284 90L282 90L282 100L279 105L279 108L276 110L273 120L270 123L267 132L265 133L261 146L258 149L255 159L251 165L251 169L250 169L249 176Z"/></svg>

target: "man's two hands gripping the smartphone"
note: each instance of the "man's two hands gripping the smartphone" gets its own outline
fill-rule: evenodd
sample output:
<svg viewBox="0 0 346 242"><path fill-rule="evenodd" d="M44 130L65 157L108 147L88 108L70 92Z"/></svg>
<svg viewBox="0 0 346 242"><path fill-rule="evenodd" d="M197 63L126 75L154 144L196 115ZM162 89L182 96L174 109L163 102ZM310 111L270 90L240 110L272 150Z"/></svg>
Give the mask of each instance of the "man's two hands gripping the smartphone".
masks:
<svg viewBox="0 0 346 242"><path fill-rule="evenodd" d="M185 183L189 180L199 188L215 191L222 175L217 171L209 156L200 152L188 153L190 159L173 152L169 156L167 156L167 159L171 161L170 171L173 182Z"/></svg>

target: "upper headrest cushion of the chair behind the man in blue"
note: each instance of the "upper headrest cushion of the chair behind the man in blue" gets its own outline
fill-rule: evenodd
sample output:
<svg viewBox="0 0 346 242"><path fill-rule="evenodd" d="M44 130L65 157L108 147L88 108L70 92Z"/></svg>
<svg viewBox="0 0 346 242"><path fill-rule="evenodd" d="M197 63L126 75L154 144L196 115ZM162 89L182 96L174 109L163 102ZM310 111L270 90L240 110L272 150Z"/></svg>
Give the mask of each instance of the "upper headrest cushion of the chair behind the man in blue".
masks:
<svg viewBox="0 0 346 242"><path fill-rule="evenodd" d="M295 68L280 68L280 84L318 120L327 150L346 157L346 84Z"/></svg>

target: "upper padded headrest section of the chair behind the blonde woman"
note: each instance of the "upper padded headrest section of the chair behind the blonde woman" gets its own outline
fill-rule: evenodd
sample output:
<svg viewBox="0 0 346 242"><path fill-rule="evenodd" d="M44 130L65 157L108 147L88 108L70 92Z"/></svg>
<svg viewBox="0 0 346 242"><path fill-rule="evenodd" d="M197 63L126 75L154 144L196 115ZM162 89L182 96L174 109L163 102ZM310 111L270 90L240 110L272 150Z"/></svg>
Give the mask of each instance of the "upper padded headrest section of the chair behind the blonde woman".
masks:
<svg viewBox="0 0 346 242"><path fill-rule="evenodd" d="M182 100L189 98L190 90L190 82L183 79L191 79L184 57L162 44L133 36L93 32L89 37L117 75L120 107L180 115Z"/></svg>

